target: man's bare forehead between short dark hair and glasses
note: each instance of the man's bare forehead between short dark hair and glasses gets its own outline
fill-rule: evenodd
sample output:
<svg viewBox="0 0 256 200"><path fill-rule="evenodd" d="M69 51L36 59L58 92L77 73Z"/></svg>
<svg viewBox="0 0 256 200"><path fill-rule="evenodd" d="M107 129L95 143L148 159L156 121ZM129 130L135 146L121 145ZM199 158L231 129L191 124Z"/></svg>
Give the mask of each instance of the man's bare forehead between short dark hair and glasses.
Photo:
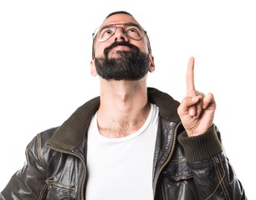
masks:
<svg viewBox="0 0 256 200"><path fill-rule="evenodd" d="M115 14L110 16L110 18L105 19L101 26L113 23L136 23L139 24L135 18L127 14Z"/></svg>

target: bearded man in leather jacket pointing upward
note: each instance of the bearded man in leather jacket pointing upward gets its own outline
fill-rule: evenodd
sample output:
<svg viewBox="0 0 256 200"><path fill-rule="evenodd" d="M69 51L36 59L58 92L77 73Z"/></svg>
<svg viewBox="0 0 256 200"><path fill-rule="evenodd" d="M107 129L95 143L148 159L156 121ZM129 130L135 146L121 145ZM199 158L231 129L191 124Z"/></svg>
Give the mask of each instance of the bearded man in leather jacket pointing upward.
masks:
<svg viewBox="0 0 256 200"><path fill-rule="evenodd" d="M179 103L146 86L154 57L130 13L110 13L93 36L100 97L28 144L0 199L246 199L213 123L214 97L194 87L194 58Z"/></svg>

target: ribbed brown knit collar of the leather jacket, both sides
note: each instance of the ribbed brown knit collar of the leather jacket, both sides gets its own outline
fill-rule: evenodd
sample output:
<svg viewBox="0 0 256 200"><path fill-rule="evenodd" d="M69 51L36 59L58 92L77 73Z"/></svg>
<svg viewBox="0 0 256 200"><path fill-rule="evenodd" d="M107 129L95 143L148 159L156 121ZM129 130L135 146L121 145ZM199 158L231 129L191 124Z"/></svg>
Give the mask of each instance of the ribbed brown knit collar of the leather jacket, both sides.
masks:
<svg viewBox="0 0 256 200"><path fill-rule="evenodd" d="M177 115L179 102L174 100L165 92L161 92L153 87L148 87L148 101L159 107L160 116L167 121L180 122ZM79 107L57 130L52 138L49 139L49 146L73 151L83 141L90 126L91 118L100 107L100 97L95 97L89 102Z"/></svg>

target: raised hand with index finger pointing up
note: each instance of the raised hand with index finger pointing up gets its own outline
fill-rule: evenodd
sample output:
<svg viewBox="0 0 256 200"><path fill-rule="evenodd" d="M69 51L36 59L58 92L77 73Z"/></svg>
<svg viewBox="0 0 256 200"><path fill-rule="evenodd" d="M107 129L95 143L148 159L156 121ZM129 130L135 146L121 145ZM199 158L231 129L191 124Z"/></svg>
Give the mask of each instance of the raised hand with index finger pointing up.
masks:
<svg viewBox="0 0 256 200"><path fill-rule="evenodd" d="M177 109L189 137L206 133L212 126L216 110L212 93L205 96L195 89L194 62L194 57L191 57L187 64L187 95Z"/></svg>

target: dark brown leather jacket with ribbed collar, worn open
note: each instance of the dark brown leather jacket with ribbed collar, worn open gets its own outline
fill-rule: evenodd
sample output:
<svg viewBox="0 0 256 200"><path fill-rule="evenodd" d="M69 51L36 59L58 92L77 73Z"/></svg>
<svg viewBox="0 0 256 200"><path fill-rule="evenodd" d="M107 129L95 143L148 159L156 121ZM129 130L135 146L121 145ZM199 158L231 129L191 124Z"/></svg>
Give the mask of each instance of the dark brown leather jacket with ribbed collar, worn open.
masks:
<svg viewBox="0 0 256 200"><path fill-rule="evenodd" d="M179 102L150 87L148 101L160 112L152 172L154 199L247 199L215 125L201 136L188 138L177 115ZM27 162L0 199L83 200L88 176L86 133L99 106L100 97L95 97L59 128L38 133L26 148Z"/></svg>

